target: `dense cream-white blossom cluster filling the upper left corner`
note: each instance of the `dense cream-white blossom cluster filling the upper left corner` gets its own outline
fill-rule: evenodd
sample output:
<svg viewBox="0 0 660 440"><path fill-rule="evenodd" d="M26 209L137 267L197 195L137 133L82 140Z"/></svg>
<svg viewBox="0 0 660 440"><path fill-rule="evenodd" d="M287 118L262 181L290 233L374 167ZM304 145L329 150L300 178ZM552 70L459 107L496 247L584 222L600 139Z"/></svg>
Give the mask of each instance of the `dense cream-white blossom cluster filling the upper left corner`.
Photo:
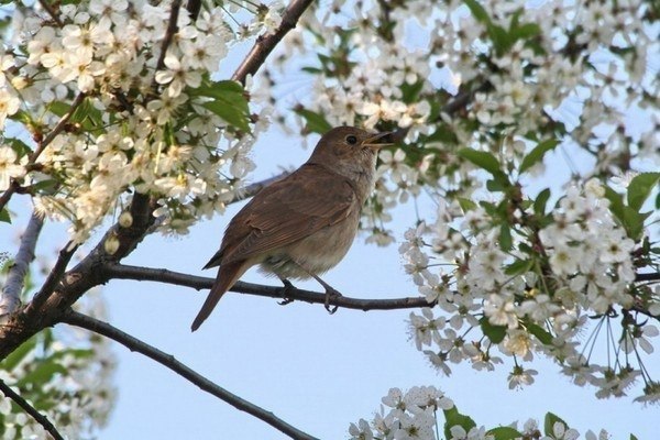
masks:
<svg viewBox="0 0 660 440"><path fill-rule="evenodd" d="M0 54L0 124L14 119L33 140L0 140L0 190L14 182L33 194L78 243L133 191L161 197L169 231L221 211L254 166L248 152L267 118L249 127L248 94L210 78L235 41L279 24L272 7L239 29L235 6L195 21L170 2L16 10Z"/></svg>

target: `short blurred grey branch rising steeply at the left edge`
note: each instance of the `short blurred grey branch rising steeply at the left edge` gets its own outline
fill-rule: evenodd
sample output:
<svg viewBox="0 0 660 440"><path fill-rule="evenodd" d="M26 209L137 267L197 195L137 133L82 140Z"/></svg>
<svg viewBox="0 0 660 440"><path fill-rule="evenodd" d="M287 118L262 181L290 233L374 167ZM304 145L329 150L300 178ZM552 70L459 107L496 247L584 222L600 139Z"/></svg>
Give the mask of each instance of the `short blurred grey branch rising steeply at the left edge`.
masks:
<svg viewBox="0 0 660 440"><path fill-rule="evenodd" d="M30 267L30 263L34 261L34 250L36 241L42 230L44 222L41 217L32 212L28 228L21 238L21 245L14 258L13 264L9 268L7 283L2 287L0 298L0 319L7 315L11 315L19 308L21 304L21 292L23 290L25 274Z"/></svg>

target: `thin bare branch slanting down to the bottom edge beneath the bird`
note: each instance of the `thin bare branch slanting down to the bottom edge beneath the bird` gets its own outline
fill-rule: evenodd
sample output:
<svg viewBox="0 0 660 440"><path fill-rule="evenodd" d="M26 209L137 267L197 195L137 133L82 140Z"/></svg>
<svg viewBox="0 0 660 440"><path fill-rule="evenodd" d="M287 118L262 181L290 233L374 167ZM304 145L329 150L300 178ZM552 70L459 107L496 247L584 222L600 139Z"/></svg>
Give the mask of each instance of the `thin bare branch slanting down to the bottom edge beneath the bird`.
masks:
<svg viewBox="0 0 660 440"><path fill-rule="evenodd" d="M284 432L292 439L315 440L315 438L310 435L302 432L299 429L288 425L286 421L277 418L273 413L266 411L265 409L245 399L242 399L235 394L232 394L227 389L216 385L201 374L195 372L190 367L177 361L172 354L164 353L161 350L148 345L147 343L130 336L129 333L119 330L116 327L110 326L107 322L99 321L98 319L91 318L82 314L78 314L70 309L64 314L62 322L66 322L70 326L81 327L89 331L102 334L106 338L110 338L119 342L120 344L124 345L131 351L135 351L138 353L144 354L147 358L153 359L163 366L172 370L173 372L177 373L190 383L197 385L200 389L220 398L221 400L227 402L229 405L233 406L234 408L241 411L245 411L256 417L257 419L265 421L275 429Z"/></svg>

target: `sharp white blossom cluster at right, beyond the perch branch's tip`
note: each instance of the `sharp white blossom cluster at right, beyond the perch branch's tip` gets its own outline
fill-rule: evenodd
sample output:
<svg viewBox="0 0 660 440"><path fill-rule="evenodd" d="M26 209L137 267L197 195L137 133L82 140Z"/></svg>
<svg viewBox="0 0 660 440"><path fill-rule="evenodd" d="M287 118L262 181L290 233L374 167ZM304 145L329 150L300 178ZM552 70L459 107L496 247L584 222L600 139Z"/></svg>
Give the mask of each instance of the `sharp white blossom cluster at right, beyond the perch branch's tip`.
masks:
<svg viewBox="0 0 660 440"><path fill-rule="evenodd" d="M575 384L596 386L598 397L623 395L641 377L646 387L639 399L657 402L658 383L641 364L638 349L650 354L649 338L658 336L658 329L647 316L630 310L637 305L650 310L649 316L657 312L650 306L659 299L658 292L648 304L636 299L637 245L609 204L595 179L571 187L551 220L532 233L538 239L535 251L525 244L529 226L514 235L510 250L503 250L499 221L481 206L465 212L444 205L437 224L421 223L408 231L399 249L406 271L419 293L436 305L410 314L418 350L448 375L451 363L469 361L476 370L493 370L503 363L502 356L509 358L510 387L534 383L537 372L521 362L542 353ZM528 209L516 215L524 222L534 213ZM438 271L443 266L437 262L452 268ZM435 310L441 314L436 316ZM622 337L607 331L606 350L615 346L615 352L608 352L603 363L592 348L600 328L609 327L619 314L625 317ZM595 328L588 317L598 318ZM590 328L593 337L582 341Z"/></svg>

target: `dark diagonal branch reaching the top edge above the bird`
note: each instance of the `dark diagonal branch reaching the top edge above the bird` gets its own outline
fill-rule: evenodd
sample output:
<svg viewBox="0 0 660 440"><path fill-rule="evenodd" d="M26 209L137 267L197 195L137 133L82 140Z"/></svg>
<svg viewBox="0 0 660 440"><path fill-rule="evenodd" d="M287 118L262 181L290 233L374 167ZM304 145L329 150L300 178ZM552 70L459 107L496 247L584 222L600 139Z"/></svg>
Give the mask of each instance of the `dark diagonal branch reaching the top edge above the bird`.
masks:
<svg viewBox="0 0 660 440"><path fill-rule="evenodd" d="M256 40L256 43L254 43L231 79L244 85L248 75L256 74L256 70L264 64L275 46L292 29L296 28L298 20L312 2L314 0L292 0L282 15L279 28L274 33L262 35Z"/></svg>

